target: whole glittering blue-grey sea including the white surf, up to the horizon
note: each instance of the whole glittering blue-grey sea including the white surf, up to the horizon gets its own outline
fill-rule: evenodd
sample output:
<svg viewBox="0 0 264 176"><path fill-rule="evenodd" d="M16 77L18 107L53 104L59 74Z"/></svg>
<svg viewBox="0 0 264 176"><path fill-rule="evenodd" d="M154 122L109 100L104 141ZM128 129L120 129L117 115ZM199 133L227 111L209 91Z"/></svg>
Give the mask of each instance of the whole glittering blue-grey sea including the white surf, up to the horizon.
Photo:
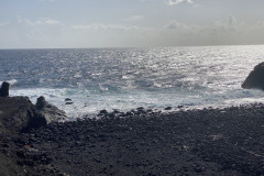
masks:
<svg viewBox="0 0 264 176"><path fill-rule="evenodd" d="M164 110L264 102L241 84L264 61L264 45L154 48L0 50L10 96L44 96L69 118L138 107ZM74 103L66 105L69 98Z"/></svg>

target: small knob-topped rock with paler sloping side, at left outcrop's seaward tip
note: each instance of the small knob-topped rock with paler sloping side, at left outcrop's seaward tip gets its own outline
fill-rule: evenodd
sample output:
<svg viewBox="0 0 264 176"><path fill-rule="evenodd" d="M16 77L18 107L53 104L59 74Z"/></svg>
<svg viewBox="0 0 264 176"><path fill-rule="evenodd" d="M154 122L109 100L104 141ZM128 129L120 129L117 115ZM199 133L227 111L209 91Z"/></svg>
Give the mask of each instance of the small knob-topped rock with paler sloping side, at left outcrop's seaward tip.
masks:
<svg viewBox="0 0 264 176"><path fill-rule="evenodd" d="M47 123L54 121L64 121L66 118L66 113L64 111L48 103L43 96L37 98L36 109L43 117L45 117Z"/></svg>

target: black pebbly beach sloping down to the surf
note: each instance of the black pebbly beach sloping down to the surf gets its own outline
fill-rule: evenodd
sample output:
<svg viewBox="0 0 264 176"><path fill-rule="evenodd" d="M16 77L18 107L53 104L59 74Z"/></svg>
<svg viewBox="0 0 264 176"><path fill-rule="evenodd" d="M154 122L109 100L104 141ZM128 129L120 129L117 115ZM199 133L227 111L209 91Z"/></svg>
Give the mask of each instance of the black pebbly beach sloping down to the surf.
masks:
<svg viewBox="0 0 264 176"><path fill-rule="evenodd" d="M86 175L264 175L264 106L105 116L22 134L24 153ZM22 153L23 154L23 153ZM56 175L56 174L54 174Z"/></svg>

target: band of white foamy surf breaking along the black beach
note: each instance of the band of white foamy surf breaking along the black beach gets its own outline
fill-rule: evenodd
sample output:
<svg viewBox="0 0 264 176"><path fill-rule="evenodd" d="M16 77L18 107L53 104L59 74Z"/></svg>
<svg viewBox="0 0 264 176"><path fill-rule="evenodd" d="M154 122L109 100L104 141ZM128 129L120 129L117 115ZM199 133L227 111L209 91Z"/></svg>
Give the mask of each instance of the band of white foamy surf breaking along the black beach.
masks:
<svg viewBox="0 0 264 176"><path fill-rule="evenodd" d="M112 111L119 109L129 111L138 107L164 109L165 107L185 109L224 108L243 103L264 102L263 91L231 89L222 92L190 94L188 91L125 91L125 92L94 92L81 89L67 88L28 88L10 90L10 96L26 96L35 103L36 98L44 96L45 99L64 110L70 118L82 118L87 114L95 116L99 110ZM70 98L73 105L65 105L65 99Z"/></svg>

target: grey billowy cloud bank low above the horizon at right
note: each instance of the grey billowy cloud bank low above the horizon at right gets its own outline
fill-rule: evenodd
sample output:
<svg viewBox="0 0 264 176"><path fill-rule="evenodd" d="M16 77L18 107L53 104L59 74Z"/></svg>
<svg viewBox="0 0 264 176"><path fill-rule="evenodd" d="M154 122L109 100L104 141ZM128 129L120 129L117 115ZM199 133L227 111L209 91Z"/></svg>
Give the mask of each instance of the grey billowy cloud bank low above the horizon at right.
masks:
<svg viewBox="0 0 264 176"><path fill-rule="evenodd" d="M161 43L167 45L233 45L261 44L264 22L245 23L229 15L224 21L209 24L183 23L172 20L160 32Z"/></svg>

